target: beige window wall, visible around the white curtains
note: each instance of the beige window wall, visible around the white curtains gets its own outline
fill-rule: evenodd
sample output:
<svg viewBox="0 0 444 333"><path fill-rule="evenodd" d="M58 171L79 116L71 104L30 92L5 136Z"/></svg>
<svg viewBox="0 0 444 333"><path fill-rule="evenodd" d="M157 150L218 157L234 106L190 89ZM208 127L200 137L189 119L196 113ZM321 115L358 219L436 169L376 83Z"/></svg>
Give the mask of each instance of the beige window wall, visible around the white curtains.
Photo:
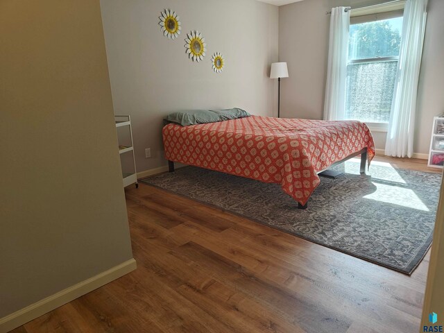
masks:
<svg viewBox="0 0 444 333"><path fill-rule="evenodd" d="M327 76L330 15L335 6L366 6L384 1L306 0L279 10L279 60L289 78L281 83L283 117L322 119ZM428 153L433 117L444 112L444 1L429 0L429 15L420 73L414 151ZM377 148L386 133L373 133Z"/></svg>

